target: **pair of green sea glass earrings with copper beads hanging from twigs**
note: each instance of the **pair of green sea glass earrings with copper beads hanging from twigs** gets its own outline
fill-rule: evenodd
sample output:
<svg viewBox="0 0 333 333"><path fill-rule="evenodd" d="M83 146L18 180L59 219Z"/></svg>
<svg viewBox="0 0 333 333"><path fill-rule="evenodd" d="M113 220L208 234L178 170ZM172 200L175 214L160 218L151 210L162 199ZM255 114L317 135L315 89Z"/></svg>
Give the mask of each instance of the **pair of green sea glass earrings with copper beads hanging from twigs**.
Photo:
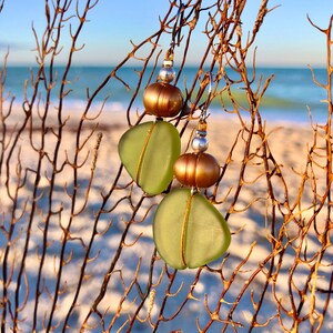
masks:
<svg viewBox="0 0 333 333"><path fill-rule="evenodd" d="M178 18L183 7L180 6ZM165 191L173 176L183 185L172 189L160 202L153 220L153 239L160 256L172 268L183 270L205 265L229 248L231 234L226 221L200 192L220 176L218 161L205 152L206 108L202 111L193 138L192 153L181 154L178 130L164 118L174 118L183 109L179 88L171 84L175 27L159 81L143 93L145 113L154 115L128 130L119 142L119 155L130 176L148 194Z"/></svg>

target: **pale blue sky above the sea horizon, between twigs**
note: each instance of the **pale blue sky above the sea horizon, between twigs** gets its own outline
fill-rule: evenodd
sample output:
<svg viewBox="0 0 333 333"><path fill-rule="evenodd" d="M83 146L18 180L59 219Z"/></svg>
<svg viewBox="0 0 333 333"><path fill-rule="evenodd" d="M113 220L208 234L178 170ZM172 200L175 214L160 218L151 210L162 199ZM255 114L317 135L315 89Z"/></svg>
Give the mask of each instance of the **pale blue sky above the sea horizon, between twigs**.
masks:
<svg viewBox="0 0 333 333"><path fill-rule="evenodd" d="M211 1L204 1L211 2ZM0 57L10 48L9 63L34 62L34 38L31 24L39 33L43 28L42 0L6 0L0 14ZM248 0L243 17L243 33L252 29L253 19L261 0ZM326 28L333 14L332 0L271 0L269 7L281 4L264 22L255 46L260 65L325 64L325 39L311 27L306 14L322 28ZM20 8L20 10L18 10ZM83 51L75 54L78 64L110 64L119 62L130 50L130 39L140 42L159 28L169 0L100 0L90 12L81 42ZM193 47L191 61L200 54L204 36L198 31L198 46ZM65 40L64 40L65 43ZM198 48L198 50L196 50Z"/></svg>

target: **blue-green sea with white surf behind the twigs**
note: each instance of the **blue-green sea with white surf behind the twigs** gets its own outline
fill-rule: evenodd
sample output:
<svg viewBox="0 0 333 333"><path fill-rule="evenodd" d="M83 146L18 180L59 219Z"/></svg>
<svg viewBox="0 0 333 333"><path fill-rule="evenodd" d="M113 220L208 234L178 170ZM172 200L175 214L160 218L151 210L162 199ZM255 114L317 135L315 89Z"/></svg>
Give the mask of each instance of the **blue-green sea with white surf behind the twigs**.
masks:
<svg viewBox="0 0 333 333"><path fill-rule="evenodd" d="M64 68L58 68L58 77L63 73ZM108 74L113 70L112 67L73 67L69 72L68 88L71 90L65 97L65 102L72 105L74 110L84 105L87 100L87 89L90 94L104 81ZM176 70L176 68L175 68ZM6 91L10 91L16 95L16 101L21 102L24 92L24 82L28 80L28 95L31 93L29 80L31 73L36 74L36 68L28 67L9 67L7 69ZM181 73L178 87L183 90L184 82L188 85L192 83L195 67L184 68ZM327 82L325 69L314 69L316 80L323 84ZM151 69L148 69L143 77L144 82L149 79ZM214 73L213 73L214 74ZM249 71L251 74L251 71ZM323 100L326 99L326 91L317 87L312 78L310 69L304 68L259 68L256 69L256 81L253 83L253 90L256 89L259 78L263 80L274 74L261 105L261 114L265 120L309 122L309 108L311 110L314 122L325 122L327 117L327 105ZM107 97L108 110L125 111L129 108L139 110L142 108L141 97L142 90L139 91L134 103L130 105L130 100L138 87L139 74L135 68L122 68L118 71L118 75L129 84L129 89L119 80L112 78L108 84L95 97L95 102L102 102ZM153 75L154 80L155 75ZM223 87L223 81L220 83ZM235 88L235 97L241 103L245 102L245 95L241 87ZM53 99L59 98L57 87L53 92ZM226 105L230 108L231 105ZM142 109L141 109L142 110ZM219 101L210 105L212 115L223 113L223 109ZM225 112L224 112L225 113Z"/></svg>

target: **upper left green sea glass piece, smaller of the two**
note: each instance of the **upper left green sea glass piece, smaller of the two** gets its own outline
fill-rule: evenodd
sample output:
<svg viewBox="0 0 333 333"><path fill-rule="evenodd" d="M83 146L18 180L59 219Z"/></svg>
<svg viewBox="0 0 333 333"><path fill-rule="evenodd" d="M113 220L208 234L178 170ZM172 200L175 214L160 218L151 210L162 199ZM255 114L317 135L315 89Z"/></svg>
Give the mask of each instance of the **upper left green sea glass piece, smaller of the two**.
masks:
<svg viewBox="0 0 333 333"><path fill-rule="evenodd" d="M178 130L169 122L144 122L128 130L119 142L120 159L131 178L148 194L159 194L170 184L172 167L180 155Z"/></svg>

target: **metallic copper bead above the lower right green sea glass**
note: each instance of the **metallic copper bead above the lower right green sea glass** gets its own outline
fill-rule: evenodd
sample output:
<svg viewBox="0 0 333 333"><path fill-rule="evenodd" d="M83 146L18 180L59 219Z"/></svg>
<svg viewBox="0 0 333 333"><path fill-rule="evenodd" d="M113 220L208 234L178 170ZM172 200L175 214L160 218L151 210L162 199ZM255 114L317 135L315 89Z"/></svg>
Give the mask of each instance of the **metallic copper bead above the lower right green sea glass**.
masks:
<svg viewBox="0 0 333 333"><path fill-rule="evenodd" d="M210 188L220 176L220 165L211 154L186 153L175 161L173 173L185 186Z"/></svg>

